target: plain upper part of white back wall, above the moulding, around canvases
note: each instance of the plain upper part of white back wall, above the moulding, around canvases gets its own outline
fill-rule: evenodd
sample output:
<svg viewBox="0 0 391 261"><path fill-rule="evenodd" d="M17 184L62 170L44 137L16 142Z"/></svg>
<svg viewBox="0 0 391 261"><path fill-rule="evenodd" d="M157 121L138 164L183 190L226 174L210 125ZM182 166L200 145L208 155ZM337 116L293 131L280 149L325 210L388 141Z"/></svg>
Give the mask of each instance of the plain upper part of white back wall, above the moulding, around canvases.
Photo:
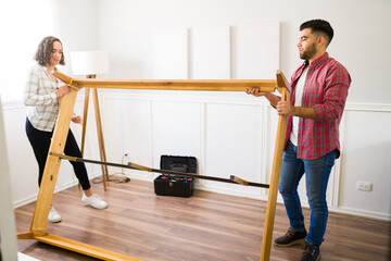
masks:
<svg viewBox="0 0 391 261"><path fill-rule="evenodd" d="M98 42L111 55L110 77L151 78L153 30L198 26L281 23L281 70L286 75L301 63L299 26L321 17L335 29L329 54L352 75L350 102L389 103L391 24L389 0L100 0L97 7Z"/></svg>

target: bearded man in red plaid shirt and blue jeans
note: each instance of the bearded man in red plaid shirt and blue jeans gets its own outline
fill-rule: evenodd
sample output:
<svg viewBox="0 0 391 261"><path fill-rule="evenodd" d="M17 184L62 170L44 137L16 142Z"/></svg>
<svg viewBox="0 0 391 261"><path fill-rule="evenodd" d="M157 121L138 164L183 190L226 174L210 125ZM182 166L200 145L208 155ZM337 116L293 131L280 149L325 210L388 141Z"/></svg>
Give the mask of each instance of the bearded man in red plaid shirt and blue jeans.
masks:
<svg viewBox="0 0 391 261"><path fill-rule="evenodd" d="M285 236L275 239L275 245L290 247L304 243L301 261L320 260L319 246L328 216L327 183L335 159L340 156L339 124L351 83L348 71L326 52L332 36L330 24L324 20L307 21L300 26L298 48L304 63L292 75L291 99L281 101L257 88L247 90L249 95L265 96L278 115L288 117L278 189L290 227ZM304 173L311 208L308 233L298 194Z"/></svg>

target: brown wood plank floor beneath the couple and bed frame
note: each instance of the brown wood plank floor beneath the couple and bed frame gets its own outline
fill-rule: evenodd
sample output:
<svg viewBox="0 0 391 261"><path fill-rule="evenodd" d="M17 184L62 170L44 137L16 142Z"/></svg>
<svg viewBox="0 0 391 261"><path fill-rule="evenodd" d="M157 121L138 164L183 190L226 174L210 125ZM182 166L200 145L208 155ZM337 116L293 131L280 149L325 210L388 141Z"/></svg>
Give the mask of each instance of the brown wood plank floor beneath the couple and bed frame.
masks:
<svg viewBox="0 0 391 261"><path fill-rule="evenodd" d="M133 179L110 183L106 202L94 210L80 201L76 187L54 196L62 222L49 233L146 261L258 261L266 202L195 190L191 198L155 196L153 184ZM15 210L16 228L28 231L35 203ZM304 210L306 220L310 211ZM274 237L288 228L283 206L277 204ZM329 214L321 260L389 261L390 223ZM96 260L35 240L18 240L18 251L40 260ZM299 260L302 250L272 248L270 260Z"/></svg>

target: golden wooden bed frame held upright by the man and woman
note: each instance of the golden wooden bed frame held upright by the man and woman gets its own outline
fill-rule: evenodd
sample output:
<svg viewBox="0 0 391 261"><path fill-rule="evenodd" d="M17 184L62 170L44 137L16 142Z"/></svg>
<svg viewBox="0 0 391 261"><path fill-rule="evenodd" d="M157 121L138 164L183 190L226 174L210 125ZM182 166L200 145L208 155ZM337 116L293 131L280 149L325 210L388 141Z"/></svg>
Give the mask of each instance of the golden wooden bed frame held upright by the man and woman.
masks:
<svg viewBox="0 0 391 261"><path fill-rule="evenodd" d="M71 251L90 256L102 260L138 260L121 253L93 247L79 241L50 235L46 228L48 214L53 198L54 187L61 164L65 140L70 129L73 109L76 102L77 91L83 87L90 88L116 88L116 89L161 89L161 90L211 90L211 91L245 91L251 87L257 87L260 91L274 92L278 90L281 99L287 100L290 95L290 86L280 71L277 71L277 79L76 79L59 72L54 75L71 87L71 92L62 97L59 116L55 124L52 141L49 149L43 177L39 189L31 226L28 232L18 233L18 239L35 239ZM276 212L278 183L282 162L282 152L287 132L287 119L278 117L277 137L273 160L273 169L266 208L265 226L261 250L261 261L268 261L270 257L272 236Z"/></svg>

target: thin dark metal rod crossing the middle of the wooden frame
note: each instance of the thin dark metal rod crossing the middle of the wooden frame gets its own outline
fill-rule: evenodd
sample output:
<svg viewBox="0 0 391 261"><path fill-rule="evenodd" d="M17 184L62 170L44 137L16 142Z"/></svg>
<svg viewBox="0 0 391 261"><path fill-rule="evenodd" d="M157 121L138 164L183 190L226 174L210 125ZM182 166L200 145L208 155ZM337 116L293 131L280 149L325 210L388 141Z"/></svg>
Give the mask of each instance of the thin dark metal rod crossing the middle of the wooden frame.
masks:
<svg viewBox="0 0 391 261"><path fill-rule="evenodd" d="M230 178L224 178L224 177L197 175L197 174L176 172L176 171L157 170L157 169L152 169L152 167L135 164L135 163L131 163L131 162L129 162L127 165L125 165L125 164L118 164L118 163L112 163L112 162L87 160L87 159L83 159L83 158L76 158L76 157L71 157L71 156L65 156L65 154L59 154L59 153L54 153L54 152L51 152L51 151L49 152L49 154L54 156L54 157L59 157L60 159L65 159L65 160L76 161L76 162L110 165L110 166L116 166L116 167L126 167L126 169L131 169L131 170L139 170L139 171L155 172L155 173L161 173L161 174L166 174L166 175L176 175L176 176L184 176L184 177L207 179L207 181L213 181L213 182L231 183L231 184L251 186L251 187L262 187L262 188L268 188L269 187L268 184L245 182L245 181L243 181L243 179L241 179L239 177L232 176L232 175L230 176Z"/></svg>

